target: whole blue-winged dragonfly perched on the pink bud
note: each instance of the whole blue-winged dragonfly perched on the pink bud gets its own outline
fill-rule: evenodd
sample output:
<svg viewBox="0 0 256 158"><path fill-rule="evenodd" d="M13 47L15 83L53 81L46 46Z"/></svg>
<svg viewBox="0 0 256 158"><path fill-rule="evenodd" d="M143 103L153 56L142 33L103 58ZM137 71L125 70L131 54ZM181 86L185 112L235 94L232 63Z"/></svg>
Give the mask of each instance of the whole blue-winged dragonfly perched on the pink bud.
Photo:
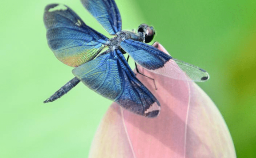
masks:
<svg viewBox="0 0 256 158"><path fill-rule="evenodd" d="M60 98L82 81L128 111L148 118L158 116L159 101L136 78L125 53L141 67L159 75L196 82L209 79L203 69L174 59L147 44L155 35L152 26L141 24L137 32L122 30L120 12L114 0L81 0L81 3L113 38L90 28L68 6L47 5L44 25L48 46L62 63L75 67L72 70L75 77L44 103Z"/></svg>

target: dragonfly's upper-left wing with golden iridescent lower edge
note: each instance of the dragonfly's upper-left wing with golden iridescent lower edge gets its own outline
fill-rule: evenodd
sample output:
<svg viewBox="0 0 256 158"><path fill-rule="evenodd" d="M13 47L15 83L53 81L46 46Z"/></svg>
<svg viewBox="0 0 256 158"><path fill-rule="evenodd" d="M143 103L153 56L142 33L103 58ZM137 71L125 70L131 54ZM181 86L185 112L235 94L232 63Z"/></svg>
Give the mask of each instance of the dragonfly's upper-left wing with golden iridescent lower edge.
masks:
<svg viewBox="0 0 256 158"><path fill-rule="evenodd" d="M63 63L77 67L95 58L108 38L88 27L72 9L49 4L44 10L48 45Z"/></svg>

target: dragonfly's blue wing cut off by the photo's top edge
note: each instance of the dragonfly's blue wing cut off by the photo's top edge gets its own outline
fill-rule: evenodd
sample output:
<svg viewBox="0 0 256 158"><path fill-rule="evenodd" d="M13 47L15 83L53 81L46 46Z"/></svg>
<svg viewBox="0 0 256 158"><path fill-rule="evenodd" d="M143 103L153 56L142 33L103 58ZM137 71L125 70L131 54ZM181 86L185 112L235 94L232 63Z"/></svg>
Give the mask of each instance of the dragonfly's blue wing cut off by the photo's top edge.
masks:
<svg viewBox="0 0 256 158"><path fill-rule="evenodd" d="M114 0L81 0L84 7L110 34L122 29L122 20Z"/></svg>

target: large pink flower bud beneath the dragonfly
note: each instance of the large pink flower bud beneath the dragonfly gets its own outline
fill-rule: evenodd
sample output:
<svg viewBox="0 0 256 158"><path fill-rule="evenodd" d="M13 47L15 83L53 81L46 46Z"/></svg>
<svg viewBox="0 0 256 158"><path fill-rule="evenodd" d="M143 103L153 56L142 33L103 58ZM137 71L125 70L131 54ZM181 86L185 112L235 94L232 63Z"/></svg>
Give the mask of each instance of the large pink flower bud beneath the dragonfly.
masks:
<svg viewBox="0 0 256 158"><path fill-rule="evenodd" d="M167 52L160 44L158 49ZM140 67L138 79L161 104L157 118L135 115L113 103L102 119L89 158L236 158L228 127L212 100L193 82ZM207 84L207 82L205 83Z"/></svg>

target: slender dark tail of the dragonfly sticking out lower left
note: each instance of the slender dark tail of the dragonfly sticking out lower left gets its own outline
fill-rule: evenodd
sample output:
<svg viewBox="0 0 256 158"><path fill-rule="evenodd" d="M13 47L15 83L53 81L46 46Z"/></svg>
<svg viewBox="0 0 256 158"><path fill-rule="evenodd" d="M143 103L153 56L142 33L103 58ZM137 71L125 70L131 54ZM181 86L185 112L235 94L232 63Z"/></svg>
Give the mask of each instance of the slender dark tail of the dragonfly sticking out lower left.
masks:
<svg viewBox="0 0 256 158"><path fill-rule="evenodd" d="M56 91L50 98L46 99L44 103L53 102L56 99L59 99L64 94L68 93L73 87L75 87L78 83L80 83L80 80L74 77L68 83L66 83L64 86L62 86L58 91Z"/></svg>

